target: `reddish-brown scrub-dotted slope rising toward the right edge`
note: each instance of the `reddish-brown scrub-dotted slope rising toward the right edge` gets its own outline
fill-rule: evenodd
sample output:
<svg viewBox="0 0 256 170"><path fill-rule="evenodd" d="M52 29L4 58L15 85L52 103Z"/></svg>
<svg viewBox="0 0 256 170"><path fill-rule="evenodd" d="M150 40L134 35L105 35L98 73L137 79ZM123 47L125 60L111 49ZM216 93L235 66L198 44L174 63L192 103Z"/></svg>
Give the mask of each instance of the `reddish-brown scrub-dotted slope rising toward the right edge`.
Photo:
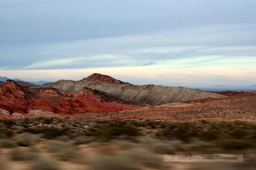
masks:
<svg viewBox="0 0 256 170"><path fill-rule="evenodd" d="M256 91L224 98L206 98L120 111L118 113L89 113L86 118L132 119L171 122L249 122L256 123Z"/></svg>

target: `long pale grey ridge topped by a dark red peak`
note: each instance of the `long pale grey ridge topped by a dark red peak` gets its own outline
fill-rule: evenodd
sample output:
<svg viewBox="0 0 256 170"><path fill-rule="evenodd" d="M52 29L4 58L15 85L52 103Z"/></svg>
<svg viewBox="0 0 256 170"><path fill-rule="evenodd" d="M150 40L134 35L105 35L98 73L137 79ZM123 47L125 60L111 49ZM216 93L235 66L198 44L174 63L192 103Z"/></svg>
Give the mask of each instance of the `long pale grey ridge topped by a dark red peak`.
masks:
<svg viewBox="0 0 256 170"><path fill-rule="evenodd" d="M98 73L79 81L59 80L34 88L56 88L65 92L78 92L84 87L112 94L127 102L150 106L200 98L224 97L220 94L184 87L155 86L153 84L138 86Z"/></svg>

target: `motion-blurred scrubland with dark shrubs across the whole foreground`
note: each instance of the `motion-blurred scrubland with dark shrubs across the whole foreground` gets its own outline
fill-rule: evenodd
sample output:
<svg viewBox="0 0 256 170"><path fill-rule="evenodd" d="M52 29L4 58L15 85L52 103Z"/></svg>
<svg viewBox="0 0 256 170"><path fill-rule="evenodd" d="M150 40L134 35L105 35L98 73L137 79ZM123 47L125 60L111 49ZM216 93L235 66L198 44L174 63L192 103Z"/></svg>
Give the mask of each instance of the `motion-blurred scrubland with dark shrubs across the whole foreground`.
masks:
<svg viewBox="0 0 256 170"><path fill-rule="evenodd" d="M95 170L254 169L256 125L204 120L1 119L0 148L1 170L12 168L8 162L24 162L30 170L68 169L63 162ZM215 153L244 154L244 162L163 162L163 154Z"/></svg>

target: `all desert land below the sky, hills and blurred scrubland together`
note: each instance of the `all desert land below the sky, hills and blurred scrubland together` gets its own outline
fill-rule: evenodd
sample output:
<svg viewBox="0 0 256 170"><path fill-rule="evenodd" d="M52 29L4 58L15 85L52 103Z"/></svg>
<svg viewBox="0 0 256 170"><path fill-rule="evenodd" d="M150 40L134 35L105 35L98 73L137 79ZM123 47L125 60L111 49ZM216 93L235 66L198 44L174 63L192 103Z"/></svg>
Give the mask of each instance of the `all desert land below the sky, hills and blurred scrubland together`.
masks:
<svg viewBox="0 0 256 170"><path fill-rule="evenodd" d="M1 169L255 167L255 91L138 86L98 73L42 85L6 80L0 118ZM209 152L242 153L244 162L161 157Z"/></svg>

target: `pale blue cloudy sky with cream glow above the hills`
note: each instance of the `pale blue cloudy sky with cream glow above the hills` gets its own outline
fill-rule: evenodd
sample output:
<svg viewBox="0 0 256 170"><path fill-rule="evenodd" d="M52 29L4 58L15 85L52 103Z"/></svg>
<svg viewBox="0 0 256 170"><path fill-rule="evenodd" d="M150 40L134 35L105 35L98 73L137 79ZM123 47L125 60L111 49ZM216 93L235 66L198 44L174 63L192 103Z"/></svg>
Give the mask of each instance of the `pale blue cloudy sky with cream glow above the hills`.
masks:
<svg viewBox="0 0 256 170"><path fill-rule="evenodd" d="M256 84L256 0L0 0L0 76Z"/></svg>

